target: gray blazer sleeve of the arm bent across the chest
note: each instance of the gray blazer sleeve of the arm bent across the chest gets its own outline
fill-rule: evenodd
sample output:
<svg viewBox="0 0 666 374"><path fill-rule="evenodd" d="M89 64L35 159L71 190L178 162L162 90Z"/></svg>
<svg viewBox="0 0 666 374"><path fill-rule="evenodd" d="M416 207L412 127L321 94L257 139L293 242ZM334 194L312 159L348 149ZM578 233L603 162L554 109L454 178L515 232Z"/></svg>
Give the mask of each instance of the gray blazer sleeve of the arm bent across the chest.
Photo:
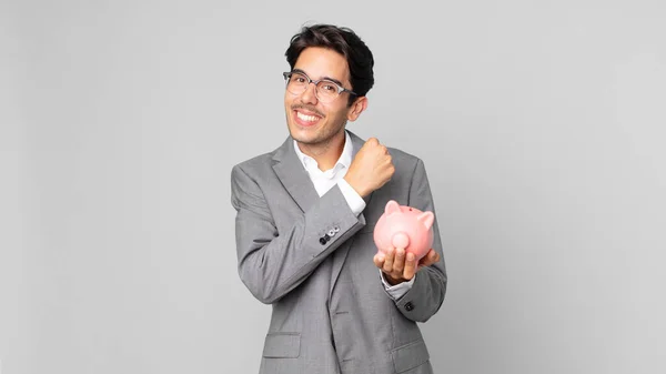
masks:
<svg viewBox="0 0 666 374"><path fill-rule="evenodd" d="M236 211L239 275L264 304L279 301L305 281L329 254L365 225L363 214L352 212L335 185L289 230L279 232L262 189L241 165L231 172L231 203Z"/></svg>

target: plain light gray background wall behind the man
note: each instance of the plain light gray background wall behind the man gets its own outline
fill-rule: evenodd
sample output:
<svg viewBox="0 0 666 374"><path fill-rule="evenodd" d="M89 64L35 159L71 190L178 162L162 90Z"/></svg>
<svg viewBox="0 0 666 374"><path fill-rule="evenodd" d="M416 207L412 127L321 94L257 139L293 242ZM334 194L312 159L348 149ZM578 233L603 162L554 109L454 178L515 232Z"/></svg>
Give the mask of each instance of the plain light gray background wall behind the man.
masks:
<svg viewBox="0 0 666 374"><path fill-rule="evenodd" d="M286 135L315 21L376 58L350 129L425 161L437 373L666 372L665 9L1 1L2 374L258 371L230 170Z"/></svg>

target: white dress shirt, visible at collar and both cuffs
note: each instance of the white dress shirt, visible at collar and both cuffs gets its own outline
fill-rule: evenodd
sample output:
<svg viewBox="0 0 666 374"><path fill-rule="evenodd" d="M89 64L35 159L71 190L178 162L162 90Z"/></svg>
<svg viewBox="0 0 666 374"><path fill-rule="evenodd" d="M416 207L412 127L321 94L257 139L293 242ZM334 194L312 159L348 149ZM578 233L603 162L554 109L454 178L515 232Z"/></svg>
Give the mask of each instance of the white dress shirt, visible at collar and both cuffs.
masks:
<svg viewBox="0 0 666 374"><path fill-rule="evenodd" d="M299 144L295 140L294 150L296 151L296 154L299 155L299 160L301 160L303 168L305 168L305 171L307 171L310 180L314 184L314 189L316 190L316 193L320 195L320 198L324 195L324 193L326 193L329 190L331 190L332 186L337 184L352 212L359 215L365 209L365 201L363 200L363 198L361 198L361 195L359 195L356 190L354 190L350 185L350 183L347 183L347 181L344 180L344 175L346 175L346 172L350 165L352 164L353 155L352 139L350 138L350 134L346 131L344 133L345 138L342 154L335 163L335 166L326 171L321 171L319 169L319 163L316 162L316 160L304 154L299 148ZM386 292L391 295L391 297L393 297L394 300L398 300L407 291L410 291L410 289L412 289L412 284L414 284L414 279L416 279L416 274L414 274L414 276L408 282L398 283L393 286L386 283L384 274L381 270L380 279L382 280L384 287L386 289Z"/></svg>

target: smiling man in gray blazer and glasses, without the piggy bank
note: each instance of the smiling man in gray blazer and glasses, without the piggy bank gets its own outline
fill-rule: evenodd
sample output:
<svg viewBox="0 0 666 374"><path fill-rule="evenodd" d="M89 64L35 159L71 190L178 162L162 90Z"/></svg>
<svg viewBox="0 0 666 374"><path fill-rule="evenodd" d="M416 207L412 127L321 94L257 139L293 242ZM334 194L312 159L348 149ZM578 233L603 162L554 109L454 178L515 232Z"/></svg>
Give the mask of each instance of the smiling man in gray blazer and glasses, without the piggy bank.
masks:
<svg viewBox="0 0 666 374"><path fill-rule="evenodd" d="M373 241L389 200L434 212L423 162L346 131L374 83L352 30L303 28L285 55L290 137L231 175L239 274L272 304L260 373L433 373L416 323L446 290L436 221L420 263Z"/></svg>

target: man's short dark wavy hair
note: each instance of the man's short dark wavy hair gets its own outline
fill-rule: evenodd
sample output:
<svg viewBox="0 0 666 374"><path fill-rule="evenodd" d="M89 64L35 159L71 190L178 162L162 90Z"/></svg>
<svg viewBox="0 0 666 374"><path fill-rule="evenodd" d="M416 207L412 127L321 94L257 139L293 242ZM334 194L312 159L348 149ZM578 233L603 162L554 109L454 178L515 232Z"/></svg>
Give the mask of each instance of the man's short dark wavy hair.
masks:
<svg viewBox="0 0 666 374"><path fill-rule="evenodd" d="M374 85L374 58L365 43L349 28L332 24L314 24L303 27L301 32L292 37L284 55L291 69L294 69L301 52L309 47L322 47L342 54L350 67L352 91L364 97ZM347 105L354 102L350 95Z"/></svg>

